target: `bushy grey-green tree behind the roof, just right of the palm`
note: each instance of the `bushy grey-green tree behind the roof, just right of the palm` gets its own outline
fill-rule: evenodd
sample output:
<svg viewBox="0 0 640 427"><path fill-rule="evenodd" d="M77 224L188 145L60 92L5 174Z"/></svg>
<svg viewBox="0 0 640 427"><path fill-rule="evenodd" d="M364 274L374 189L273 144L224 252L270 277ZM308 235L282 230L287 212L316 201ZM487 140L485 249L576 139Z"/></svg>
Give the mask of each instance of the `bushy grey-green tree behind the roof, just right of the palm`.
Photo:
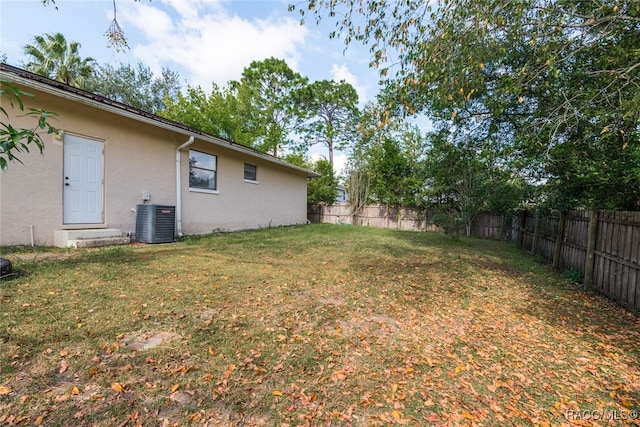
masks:
<svg viewBox="0 0 640 427"><path fill-rule="evenodd" d="M163 68L155 77L151 68L141 62L137 67L120 64L98 66L87 90L107 98L130 105L149 113L157 114L167 108L167 99L176 99L180 93L180 75Z"/></svg>

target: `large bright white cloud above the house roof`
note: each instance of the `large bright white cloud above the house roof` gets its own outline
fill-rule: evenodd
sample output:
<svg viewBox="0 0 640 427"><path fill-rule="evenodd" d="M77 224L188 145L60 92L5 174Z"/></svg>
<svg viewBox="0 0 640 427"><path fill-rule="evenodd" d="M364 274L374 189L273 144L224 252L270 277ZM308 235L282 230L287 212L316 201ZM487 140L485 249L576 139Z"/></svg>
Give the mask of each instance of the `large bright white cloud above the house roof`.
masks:
<svg viewBox="0 0 640 427"><path fill-rule="evenodd" d="M183 77L205 90L211 82L224 86L238 80L251 61L271 56L297 70L309 35L296 19L246 19L230 14L218 0L125 4L123 19L146 38L132 53L154 72L163 66L185 70Z"/></svg>

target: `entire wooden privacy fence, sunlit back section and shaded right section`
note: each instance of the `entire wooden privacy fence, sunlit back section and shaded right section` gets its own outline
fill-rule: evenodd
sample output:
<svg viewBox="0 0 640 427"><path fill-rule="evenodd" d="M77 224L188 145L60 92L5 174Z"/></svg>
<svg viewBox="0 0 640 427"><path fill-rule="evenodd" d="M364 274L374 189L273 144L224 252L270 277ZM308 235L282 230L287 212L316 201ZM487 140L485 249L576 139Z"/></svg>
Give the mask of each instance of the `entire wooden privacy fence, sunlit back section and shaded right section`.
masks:
<svg viewBox="0 0 640 427"><path fill-rule="evenodd" d="M433 213L387 205L365 206L355 215L348 203L311 206L308 218L311 222L442 231L433 224ZM471 234L515 241L555 270L581 275L585 288L640 312L640 212L539 215L526 211L513 217L482 212L476 216Z"/></svg>

